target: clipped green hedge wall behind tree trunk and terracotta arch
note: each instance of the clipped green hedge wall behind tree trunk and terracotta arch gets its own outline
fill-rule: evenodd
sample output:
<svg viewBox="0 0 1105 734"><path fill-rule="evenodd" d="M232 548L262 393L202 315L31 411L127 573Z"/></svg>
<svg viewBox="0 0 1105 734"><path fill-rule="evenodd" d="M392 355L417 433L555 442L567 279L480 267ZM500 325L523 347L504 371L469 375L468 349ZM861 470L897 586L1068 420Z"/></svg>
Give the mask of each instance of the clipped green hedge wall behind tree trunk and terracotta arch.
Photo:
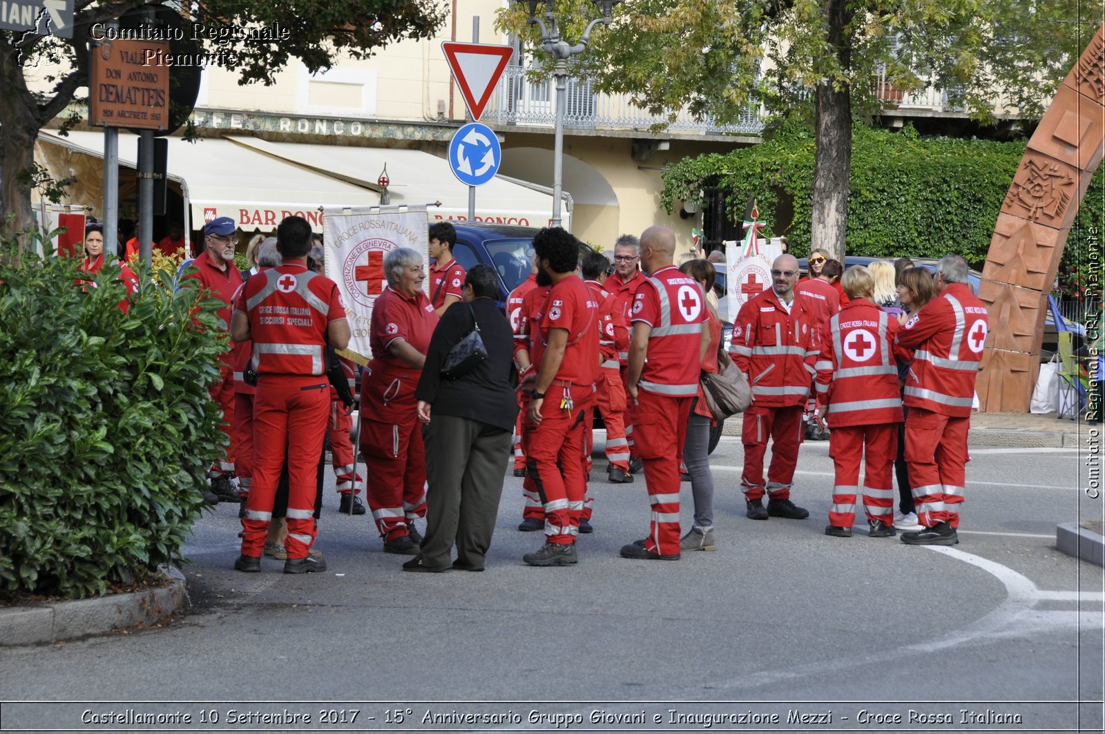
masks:
<svg viewBox="0 0 1105 734"><path fill-rule="evenodd" d="M852 143L849 254L938 258L954 252L981 266L1024 140L922 138L912 126L895 133L856 124ZM788 123L759 145L673 164L664 174L662 203L672 212L678 201L698 200L703 186L716 182L726 191L729 218L740 221L755 196L769 230L787 234L791 252L802 256L810 251L813 156L812 130ZM777 210L787 211L788 205L793 217L778 221ZM1067 241L1060 270L1064 291L1085 279L1077 266L1085 258L1077 253L1088 227L1102 232L1103 224L1105 184L1098 170Z"/></svg>

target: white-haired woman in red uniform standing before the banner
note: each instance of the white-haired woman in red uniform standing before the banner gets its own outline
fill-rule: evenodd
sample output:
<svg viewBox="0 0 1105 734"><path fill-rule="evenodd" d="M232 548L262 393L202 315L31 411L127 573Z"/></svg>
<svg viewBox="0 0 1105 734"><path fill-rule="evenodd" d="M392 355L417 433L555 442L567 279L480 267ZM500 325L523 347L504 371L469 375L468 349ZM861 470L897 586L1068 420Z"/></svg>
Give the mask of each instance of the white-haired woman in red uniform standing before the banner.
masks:
<svg viewBox="0 0 1105 734"><path fill-rule="evenodd" d="M413 556L425 516L425 448L414 388L438 315L422 292L422 255L397 248L383 256L388 285L372 305L372 361L360 389L360 449L371 482L368 506L385 553ZM369 290L378 283L369 283Z"/></svg>

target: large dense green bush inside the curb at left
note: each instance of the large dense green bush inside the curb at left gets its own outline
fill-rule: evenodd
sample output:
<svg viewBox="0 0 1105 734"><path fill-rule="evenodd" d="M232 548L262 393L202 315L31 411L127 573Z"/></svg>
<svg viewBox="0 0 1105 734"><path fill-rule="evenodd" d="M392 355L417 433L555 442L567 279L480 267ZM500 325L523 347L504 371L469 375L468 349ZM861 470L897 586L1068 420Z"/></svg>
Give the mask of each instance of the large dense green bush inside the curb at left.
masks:
<svg viewBox="0 0 1105 734"><path fill-rule="evenodd" d="M208 396L227 333L213 298L117 266L0 250L0 588L86 597L181 547L225 444Z"/></svg>

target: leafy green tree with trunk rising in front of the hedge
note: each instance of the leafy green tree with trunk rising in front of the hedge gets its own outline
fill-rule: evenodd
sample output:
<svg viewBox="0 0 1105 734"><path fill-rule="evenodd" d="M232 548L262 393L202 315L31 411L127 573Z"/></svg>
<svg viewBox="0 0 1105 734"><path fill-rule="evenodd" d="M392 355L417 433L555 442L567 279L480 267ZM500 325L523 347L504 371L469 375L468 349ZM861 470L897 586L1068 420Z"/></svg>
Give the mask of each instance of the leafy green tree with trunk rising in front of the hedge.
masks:
<svg viewBox="0 0 1105 734"><path fill-rule="evenodd" d="M565 10L580 4L596 12L586 0ZM996 102L1039 117L1101 22L1077 0L627 0L576 73L657 114L686 106L727 123L749 105L812 108L811 238L840 256L852 122L878 113L880 72L904 93L946 90L979 120L993 122ZM520 9L502 24L526 33Z"/></svg>

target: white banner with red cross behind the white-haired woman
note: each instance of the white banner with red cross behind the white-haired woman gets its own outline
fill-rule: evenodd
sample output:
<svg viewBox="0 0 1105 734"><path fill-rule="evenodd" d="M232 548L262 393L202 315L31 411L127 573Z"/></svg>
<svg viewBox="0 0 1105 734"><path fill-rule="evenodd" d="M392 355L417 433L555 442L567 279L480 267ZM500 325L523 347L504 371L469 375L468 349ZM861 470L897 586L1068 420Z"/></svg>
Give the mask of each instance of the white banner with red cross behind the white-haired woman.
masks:
<svg viewBox="0 0 1105 734"><path fill-rule="evenodd" d="M368 342L372 304L388 287L385 255L397 248L411 248L429 272L425 207L327 208L323 221L326 276L338 284L349 318L348 356L368 364L372 357Z"/></svg>

